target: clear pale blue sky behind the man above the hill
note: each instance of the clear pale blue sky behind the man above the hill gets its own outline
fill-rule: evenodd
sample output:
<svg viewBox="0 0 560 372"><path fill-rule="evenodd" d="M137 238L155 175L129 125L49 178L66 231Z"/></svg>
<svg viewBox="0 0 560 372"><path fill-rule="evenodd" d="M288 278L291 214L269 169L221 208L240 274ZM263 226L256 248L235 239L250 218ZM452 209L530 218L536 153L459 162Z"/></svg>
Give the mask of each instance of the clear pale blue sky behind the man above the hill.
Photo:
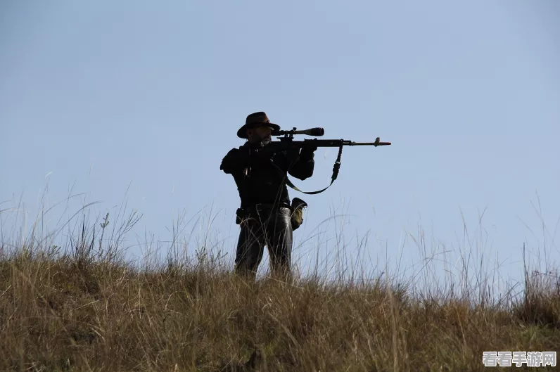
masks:
<svg viewBox="0 0 560 372"><path fill-rule="evenodd" d="M2 1L0 209L22 198L32 221L47 184L49 206L84 193L49 212L56 228L84 200L115 223L126 199L143 214L133 255L203 209L231 256L239 202L219 163L264 110L283 129L393 143L345 148L324 193L288 189L310 205L296 258L332 255L342 232L348 255L367 238L365 264L419 269L422 230L427 255L456 264L463 213L473 254L521 278L523 243L559 257L559 17L552 0ZM296 186L329 184L335 159L319 148ZM321 224L333 213L347 216ZM21 224L1 217L6 240Z"/></svg>

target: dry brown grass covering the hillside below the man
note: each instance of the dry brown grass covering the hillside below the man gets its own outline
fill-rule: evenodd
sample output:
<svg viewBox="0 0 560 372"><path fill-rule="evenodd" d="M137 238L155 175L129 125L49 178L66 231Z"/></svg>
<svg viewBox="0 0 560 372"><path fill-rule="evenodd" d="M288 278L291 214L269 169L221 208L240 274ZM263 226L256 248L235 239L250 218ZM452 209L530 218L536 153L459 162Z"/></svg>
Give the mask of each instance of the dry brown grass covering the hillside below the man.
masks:
<svg viewBox="0 0 560 372"><path fill-rule="evenodd" d="M246 283L205 255L139 267L85 227L65 250L1 245L0 371L483 371L484 351L560 348L557 275L497 301L386 278Z"/></svg>

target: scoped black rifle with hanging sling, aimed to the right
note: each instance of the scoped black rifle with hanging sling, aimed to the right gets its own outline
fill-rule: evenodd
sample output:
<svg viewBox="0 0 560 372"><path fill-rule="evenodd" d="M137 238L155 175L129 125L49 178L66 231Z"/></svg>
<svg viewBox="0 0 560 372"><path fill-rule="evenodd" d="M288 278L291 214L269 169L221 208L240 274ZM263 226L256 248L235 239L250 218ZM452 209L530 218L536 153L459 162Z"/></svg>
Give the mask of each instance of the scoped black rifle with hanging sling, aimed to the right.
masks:
<svg viewBox="0 0 560 372"><path fill-rule="evenodd" d="M336 162L334 162L333 165L333 175L331 177L331 184L329 184L329 186L326 186L326 188L323 188L322 190L319 191L312 191L312 192L306 192L306 191L301 191L299 188L295 187L292 182L290 181L290 179L288 179L288 177L286 177L286 184L288 186L290 186L291 188L293 188L296 191L300 191L301 193L306 193L306 194L317 194L317 193L322 193L323 191L325 191L327 188L331 187L331 185L333 184L334 180L338 177L338 170L341 168L341 157L342 157L342 149L344 146L389 146L391 143L390 142L381 142L379 137L376 138L376 140L374 142L355 142L355 141L347 141L344 139L304 139L303 141L294 141L293 140L293 136L296 134L305 134L307 136L315 136L315 137L320 137L323 136L325 133L324 129L321 127L317 127L317 128L310 128L310 129L303 129L303 130L297 130L297 128L293 128L291 130L279 130L274 132L272 135L273 136L284 136L284 137L279 137L280 141L276 141L276 142L270 142L268 143L267 146L265 146L265 151L268 150L272 150L272 151L276 151L276 150L289 150L289 149L300 149L300 148L307 148L307 147L312 147L312 148L319 148L319 147L338 147L338 156L336 158Z"/></svg>

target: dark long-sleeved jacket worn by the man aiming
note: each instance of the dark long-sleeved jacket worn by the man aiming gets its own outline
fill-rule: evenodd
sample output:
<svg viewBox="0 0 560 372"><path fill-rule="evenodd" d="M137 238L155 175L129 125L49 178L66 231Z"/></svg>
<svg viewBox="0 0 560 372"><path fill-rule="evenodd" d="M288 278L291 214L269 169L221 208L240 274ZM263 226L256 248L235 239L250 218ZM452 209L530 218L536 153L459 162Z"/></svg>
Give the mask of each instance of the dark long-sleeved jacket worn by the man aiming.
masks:
<svg viewBox="0 0 560 372"><path fill-rule="evenodd" d="M314 153L311 150L250 151L250 143L232 148L219 169L234 177L241 207L257 203L290 205L286 174L297 179L313 175Z"/></svg>

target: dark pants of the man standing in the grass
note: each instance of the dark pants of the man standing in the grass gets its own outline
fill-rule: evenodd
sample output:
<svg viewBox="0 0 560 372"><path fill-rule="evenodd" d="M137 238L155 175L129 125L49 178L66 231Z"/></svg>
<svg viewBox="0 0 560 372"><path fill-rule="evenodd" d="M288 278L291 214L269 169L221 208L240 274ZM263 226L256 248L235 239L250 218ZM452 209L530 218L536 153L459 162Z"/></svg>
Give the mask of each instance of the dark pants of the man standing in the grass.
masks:
<svg viewBox="0 0 560 372"><path fill-rule="evenodd" d="M290 276L292 254L291 210L287 207L252 212L241 222L235 272L255 280L265 245L273 276Z"/></svg>

